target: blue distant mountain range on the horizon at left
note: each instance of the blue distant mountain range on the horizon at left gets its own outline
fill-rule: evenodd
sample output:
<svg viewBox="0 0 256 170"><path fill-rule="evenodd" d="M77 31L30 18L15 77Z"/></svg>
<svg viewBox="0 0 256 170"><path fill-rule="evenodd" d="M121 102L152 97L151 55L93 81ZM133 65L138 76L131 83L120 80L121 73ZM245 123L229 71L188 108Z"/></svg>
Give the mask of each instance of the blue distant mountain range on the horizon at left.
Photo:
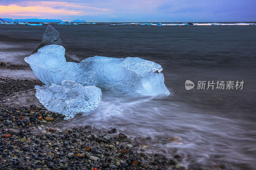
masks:
<svg viewBox="0 0 256 170"><path fill-rule="evenodd" d="M63 22L60 19L37 19L37 18L29 18L29 19L10 19L10 18L0 18L2 22ZM65 21L68 22L68 21ZM71 22L86 22L85 20L76 19Z"/></svg>

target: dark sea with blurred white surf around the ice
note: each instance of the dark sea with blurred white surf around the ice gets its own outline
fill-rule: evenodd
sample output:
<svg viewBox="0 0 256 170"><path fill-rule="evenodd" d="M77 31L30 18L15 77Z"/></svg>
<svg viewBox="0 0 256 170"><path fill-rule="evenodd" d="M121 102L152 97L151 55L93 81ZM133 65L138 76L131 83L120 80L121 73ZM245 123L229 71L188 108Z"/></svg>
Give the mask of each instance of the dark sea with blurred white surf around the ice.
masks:
<svg viewBox="0 0 256 170"><path fill-rule="evenodd" d="M0 61L26 64L46 26L0 25ZM150 98L103 94L94 113L65 127L114 127L149 152L183 155L181 163L192 169L255 169L256 26L52 26L77 60L131 56L159 63L171 92ZM35 78L31 70L0 71ZM186 80L194 89L185 89ZM208 81L218 80L244 81L243 89L206 89ZM196 89L198 81L206 81L204 90Z"/></svg>

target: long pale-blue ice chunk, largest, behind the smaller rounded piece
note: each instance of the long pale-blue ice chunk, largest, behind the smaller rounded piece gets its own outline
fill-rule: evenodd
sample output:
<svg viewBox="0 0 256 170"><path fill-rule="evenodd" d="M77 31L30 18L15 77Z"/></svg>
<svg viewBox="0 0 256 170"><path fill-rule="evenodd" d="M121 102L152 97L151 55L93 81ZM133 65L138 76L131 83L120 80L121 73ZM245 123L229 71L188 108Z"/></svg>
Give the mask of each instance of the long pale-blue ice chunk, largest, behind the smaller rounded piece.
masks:
<svg viewBox="0 0 256 170"><path fill-rule="evenodd" d="M47 45L24 60L44 84L72 80L101 90L133 96L168 96L161 65L138 57L94 56L80 63L66 62L65 48ZM158 71L159 73L156 73Z"/></svg>

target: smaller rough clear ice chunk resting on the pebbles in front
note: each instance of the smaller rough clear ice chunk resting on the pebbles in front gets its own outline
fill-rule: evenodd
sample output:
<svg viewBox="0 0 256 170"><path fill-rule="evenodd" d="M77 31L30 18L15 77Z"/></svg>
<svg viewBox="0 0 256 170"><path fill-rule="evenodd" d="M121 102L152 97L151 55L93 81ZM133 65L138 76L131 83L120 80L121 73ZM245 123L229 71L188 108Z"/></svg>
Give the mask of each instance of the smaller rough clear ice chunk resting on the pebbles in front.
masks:
<svg viewBox="0 0 256 170"><path fill-rule="evenodd" d="M89 115L101 100L101 90L95 86L83 86L74 81L63 80L61 85L35 86L36 97L45 108L71 119L76 114Z"/></svg>

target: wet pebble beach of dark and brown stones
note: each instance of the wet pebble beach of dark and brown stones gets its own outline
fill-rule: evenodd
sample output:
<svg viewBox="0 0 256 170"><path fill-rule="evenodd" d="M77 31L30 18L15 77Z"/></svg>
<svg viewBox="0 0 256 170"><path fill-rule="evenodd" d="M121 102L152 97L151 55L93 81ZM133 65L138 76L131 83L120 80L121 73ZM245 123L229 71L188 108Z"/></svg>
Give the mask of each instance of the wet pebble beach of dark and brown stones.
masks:
<svg viewBox="0 0 256 170"><path fill-rule="evenodd" d="M10 100L26 92L32 97L35 85L43 83L0 78L1 169L186 169L177 163L181 156L167 159L148 153L146 145L133 142L118 128L101 132L87 125L60 130L57 125L65 123L64 115L40 103L28 106Z"/></svg>

